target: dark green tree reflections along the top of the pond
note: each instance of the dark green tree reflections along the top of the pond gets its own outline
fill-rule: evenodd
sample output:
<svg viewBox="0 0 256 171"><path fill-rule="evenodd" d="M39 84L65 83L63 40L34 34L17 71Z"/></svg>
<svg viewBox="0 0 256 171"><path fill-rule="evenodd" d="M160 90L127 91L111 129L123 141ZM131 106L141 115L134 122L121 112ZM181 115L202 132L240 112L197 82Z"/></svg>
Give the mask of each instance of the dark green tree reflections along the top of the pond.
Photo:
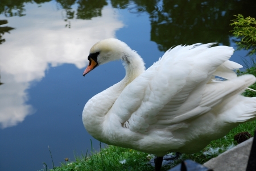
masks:
<svg viewBox="0 0 256 171"><path fill-rule="evenodd" d="M44 3L49 0L3 1L0 14L23 16L24 3ZM256 1L168 1L168 0L112 0L112 7L127 9L129 4L141 6L147 12L151 22L151 40L158 44L160 51L166 51L172 45L218 42L229 45L232 27L229 26L233 15L256 17ZM71 19L92 19L101 16L106 0L56 0L65 10L66 27L71 27ZM77 5L73 11L71 6Z"/></svg>

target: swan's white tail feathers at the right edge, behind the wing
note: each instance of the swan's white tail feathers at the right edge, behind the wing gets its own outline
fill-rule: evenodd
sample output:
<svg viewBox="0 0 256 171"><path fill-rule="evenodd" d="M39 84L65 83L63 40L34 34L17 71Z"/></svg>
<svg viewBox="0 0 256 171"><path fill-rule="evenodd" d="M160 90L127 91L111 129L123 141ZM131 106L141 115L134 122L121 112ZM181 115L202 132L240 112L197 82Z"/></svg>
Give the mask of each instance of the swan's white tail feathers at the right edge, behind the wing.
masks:
<svg viewBox="0 0 256 171"><path fill-rule="evenodd" d="M213 107L213 111L216 111L216 114L220 117L218 120L222 120L225 123L240 124L256 119L256 97L240 95L247 86L254 84L255 81L256 78L253 75L243 75L233 80L219 83L224 87L229 87L229 89L225 89L221 93L221 95L225 95L224 101L220 105ZM234 89L232 93L225 94L225 92L232 89Z"/></svg>

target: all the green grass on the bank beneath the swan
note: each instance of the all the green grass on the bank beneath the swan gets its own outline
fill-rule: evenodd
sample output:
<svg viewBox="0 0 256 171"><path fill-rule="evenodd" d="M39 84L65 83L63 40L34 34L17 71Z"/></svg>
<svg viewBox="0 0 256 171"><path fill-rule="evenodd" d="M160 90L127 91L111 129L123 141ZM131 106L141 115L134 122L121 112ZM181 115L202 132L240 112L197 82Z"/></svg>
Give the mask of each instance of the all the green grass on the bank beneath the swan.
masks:
<svg viewBox="0 0 256 171"><path fill-rule="evenodd" d="M236 141L234 141L234 135L245 131L254 135L255 127L256 120L240 124L238 127L231 130L228 135L212 141L202 151L192 155L183 154L174 162L174 164L163 166L162 170L168 170L185 159L191 159L203 164L234 145L237 145ZM93 149L91 149L91 151L93 151ZM99 152L94 151L91 152L90 155L86 152L85 155L75 157L75 161L62 162L61 166L55 166L53 169L48 169L47 165L44 163L46 168L39 171L154 170L151 165L147 164L152 157L154 157L154 155L135 151L133 149L107 145L105 148L100 148Z"/></svg>

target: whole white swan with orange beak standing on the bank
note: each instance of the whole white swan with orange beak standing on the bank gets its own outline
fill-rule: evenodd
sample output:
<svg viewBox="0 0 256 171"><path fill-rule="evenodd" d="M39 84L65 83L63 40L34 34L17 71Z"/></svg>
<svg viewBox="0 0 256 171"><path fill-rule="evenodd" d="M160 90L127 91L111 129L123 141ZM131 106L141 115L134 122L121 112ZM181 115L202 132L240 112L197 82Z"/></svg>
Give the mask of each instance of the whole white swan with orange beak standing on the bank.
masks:
<svg viewBox="0 0 256 171"><path fill-rule="evenodd" d="M237 77L233 70L242 65L229 61L234 49L213 44L178 45L147 70L138 53L118 39L94 44L83 76L114 60L122 60L126 75L86 103L86 131L106 144L155 154L160 170L166 153L198 152L255 119L256 98L240 94L256 78Z"/></svg>

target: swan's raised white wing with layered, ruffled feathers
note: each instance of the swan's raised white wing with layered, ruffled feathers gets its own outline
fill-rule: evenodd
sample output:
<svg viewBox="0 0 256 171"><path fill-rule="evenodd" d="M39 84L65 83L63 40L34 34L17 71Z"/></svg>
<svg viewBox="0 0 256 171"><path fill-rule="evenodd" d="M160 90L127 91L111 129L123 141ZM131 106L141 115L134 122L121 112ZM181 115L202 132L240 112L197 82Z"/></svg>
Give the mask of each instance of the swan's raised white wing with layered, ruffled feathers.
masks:
<svg viewBox="0 0 256 171"><path fill-rule="evenodd" d="M207 83L234 50L225 46L209 48L210 45L177 46L167 51L126 86L110 112L123 127L146 132L150 127L182 127L181 122L209 111L221 100L211 95L222 94L227 88L218 91L218 87L208 87Z"/></svg>

